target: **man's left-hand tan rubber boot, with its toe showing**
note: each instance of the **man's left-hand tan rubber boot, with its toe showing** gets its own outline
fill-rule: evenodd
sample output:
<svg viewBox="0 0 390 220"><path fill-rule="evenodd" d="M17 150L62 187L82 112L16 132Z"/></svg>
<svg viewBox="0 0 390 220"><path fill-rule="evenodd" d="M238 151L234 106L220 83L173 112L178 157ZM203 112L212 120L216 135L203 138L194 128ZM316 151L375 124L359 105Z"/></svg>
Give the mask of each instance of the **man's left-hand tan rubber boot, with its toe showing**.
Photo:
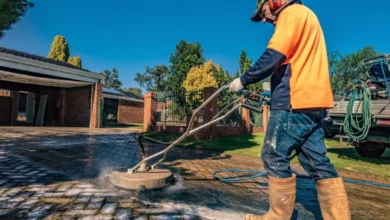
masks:
<svg viewBox="0 0 390 220"><path fill-rule="evenodd" d="M296 197L296 176L276 178L268 175L270 209L267 214L256 216L248 214L245 220L290 220L294 211Z"/></svg>

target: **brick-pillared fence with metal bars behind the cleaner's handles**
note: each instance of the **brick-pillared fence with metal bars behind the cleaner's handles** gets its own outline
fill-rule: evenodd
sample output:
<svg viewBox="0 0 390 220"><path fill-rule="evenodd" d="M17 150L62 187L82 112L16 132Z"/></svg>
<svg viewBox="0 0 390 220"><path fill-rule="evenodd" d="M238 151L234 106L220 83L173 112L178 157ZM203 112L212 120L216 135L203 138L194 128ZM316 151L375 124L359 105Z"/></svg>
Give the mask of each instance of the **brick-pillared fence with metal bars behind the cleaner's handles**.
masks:
<svg viewBox="0 0 390 220"><path fill-rule="evenodd" d="M144 101L144 131L155 131L180 134L187 129L188 119L192 111L204 100L209 98L215 88L207 88L196 93L178 95L156 95L148 93ZM196 117L193 127L198 127L210 121L221 109L237 97L230 94L222 94L211 101ZM266 117L266 118L265 118ZM263 121L268 114L258 114L248 109L237 109L225 120L195 134L195 139L215 138L239 134L251 134L265 130Z"/></svg>

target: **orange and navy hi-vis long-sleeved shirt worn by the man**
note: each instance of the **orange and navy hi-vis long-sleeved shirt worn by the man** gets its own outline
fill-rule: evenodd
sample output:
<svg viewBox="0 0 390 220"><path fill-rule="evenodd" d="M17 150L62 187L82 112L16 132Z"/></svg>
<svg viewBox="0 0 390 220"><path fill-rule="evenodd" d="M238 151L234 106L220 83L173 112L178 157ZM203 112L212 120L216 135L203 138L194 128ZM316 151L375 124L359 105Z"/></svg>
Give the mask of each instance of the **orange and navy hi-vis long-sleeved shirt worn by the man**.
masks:
<svg viewBox="0 0 390 220"><path fill-rule="evenodd" d="M271 76L271 109L333 108L324 34L317 16L293 4L279 15L267 50L241 76L244 86Z"/></svg>

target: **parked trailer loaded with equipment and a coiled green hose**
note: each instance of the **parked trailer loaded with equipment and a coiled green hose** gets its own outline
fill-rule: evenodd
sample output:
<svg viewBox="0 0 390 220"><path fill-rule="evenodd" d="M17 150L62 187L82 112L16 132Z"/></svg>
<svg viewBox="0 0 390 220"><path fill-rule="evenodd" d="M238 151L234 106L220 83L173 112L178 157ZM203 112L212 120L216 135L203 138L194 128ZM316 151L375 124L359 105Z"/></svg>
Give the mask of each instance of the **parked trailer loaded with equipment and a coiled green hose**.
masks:
<svg viewBox="0 0 390 220"><path fill-rule="evenodd" d="M378 158L390 148L390 54L364 60L362 65L367 81L335 101L325 132L348 136L362 157Z"/></svg>

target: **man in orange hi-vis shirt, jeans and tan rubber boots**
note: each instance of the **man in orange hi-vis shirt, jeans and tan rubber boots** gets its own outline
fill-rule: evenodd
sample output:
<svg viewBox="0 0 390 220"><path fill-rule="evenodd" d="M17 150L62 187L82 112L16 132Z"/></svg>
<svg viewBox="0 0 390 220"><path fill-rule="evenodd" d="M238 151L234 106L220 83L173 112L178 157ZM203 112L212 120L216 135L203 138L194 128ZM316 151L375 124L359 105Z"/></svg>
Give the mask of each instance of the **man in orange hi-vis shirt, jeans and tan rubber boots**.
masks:
<svg viewBox="0 0 390 220"><path fill-rule="evenodd" d="M275 25L266 51L254 66L230 84L237 92L271 76L271 115L262 150L269 173L270 209L247 220L290 219L296 177L292 151L316 181L325 220L348 220L350 210L342 179L326 156L321 122L332 108L324 34L316 15L301 1L259 0L252 20Z"/></svg>

